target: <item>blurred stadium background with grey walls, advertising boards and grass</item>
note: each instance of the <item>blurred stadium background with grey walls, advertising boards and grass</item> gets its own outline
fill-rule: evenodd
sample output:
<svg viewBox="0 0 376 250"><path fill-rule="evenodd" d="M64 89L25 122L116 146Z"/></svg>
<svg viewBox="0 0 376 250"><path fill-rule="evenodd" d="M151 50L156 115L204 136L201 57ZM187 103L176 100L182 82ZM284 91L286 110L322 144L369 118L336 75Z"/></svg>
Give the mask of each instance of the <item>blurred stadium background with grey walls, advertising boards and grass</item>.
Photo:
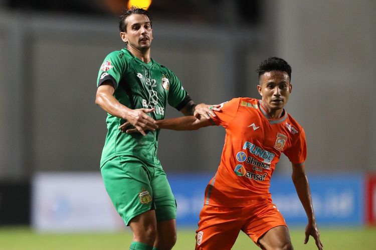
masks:
<svg viewBox="0 0 376 250"><path fill-rule="evenodd" d="M106 125L94 104L105 55L124 46L117 16L127 2L0 0L0 249L129 245L99 173ZM306 131L327 249L376 245L374 9L373 0L153 0L149 7L151 55L197 103L257 97L261 60L275 55L291 64L287 110ZM161 132L158 153L178 203L175 249L193 249L223 140L220 127ZM302 246L306 218L290 174L282 158L273 199L295 248L315 249L312 239ZM244 235L234 246L251 248Z"/></svg>

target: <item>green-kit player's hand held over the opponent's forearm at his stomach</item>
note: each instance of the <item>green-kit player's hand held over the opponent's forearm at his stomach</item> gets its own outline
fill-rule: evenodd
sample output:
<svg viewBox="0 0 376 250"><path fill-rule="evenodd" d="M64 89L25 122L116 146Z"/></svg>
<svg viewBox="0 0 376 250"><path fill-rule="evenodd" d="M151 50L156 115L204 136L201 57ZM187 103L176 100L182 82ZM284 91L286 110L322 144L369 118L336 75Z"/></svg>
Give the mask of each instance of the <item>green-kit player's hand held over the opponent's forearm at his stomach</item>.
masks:
<svg viewBox="0 0 376 250"><path fill-rule="evenodd" d="M155 131L158 128L156 121L151 118L147 113L153 112L154 108L137 108L132 109L127 115L127 122L121 124L119 129L123 132L126 131L129 125L134 127L134 131L140 132L142 135L146 135L145 131Z"/></svg>

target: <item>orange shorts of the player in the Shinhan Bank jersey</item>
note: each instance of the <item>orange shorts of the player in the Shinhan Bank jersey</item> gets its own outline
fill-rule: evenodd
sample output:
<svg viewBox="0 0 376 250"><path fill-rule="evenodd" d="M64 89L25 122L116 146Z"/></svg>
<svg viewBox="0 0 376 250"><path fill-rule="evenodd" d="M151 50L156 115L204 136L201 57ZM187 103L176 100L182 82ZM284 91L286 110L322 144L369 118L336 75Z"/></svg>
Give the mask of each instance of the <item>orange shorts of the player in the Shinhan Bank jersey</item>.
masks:
<svg viewBox="0 0 376 250"><path fill-rule="evenodd" d="M263 234L279 225L287 226L282 214L269 200L244 207L204 205L196 231L196 250L231 249L240 230L258 245Z"/></svg>

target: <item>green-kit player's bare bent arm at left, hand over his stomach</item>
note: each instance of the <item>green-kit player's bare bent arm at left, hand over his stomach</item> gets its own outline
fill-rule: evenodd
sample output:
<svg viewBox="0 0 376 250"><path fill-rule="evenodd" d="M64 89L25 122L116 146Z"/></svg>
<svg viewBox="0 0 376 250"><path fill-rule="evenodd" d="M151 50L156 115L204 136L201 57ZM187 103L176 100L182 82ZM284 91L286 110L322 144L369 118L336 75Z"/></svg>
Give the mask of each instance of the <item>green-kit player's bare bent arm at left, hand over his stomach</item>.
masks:
<svg viewBox="0 0 376 250"><path fill-rule="evenodd" d="M98 88L95 97L95 103L106 112L127 120L142 135L146 135L146 130L155 131L158 126L156 121L146 113L154 111L154 108L131 109L121 104L114 96L115 88L111 81L103 82Z"/></svg>

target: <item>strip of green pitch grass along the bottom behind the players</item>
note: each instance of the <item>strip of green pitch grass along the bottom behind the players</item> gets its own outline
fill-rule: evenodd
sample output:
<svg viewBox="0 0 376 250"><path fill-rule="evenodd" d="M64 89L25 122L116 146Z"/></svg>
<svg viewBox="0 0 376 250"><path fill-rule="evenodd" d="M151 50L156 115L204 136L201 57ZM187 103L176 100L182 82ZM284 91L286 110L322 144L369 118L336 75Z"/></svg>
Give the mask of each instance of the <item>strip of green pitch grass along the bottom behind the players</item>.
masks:
<svg viewBox="0 0 376 250"><path fill-rule="evenodd" d="M290 228L290 233L295 249L317 249L312 237L303 244L304 228ZM320 228L320 238L324 249L329 250L376 249L376 227ZM127 250L131 239L128 229L112 233L37 233L27 227L0 227L1 250ZM173 249L192 250L194 247L195 229L178 228ZM232 249L260 248L241 232Z"/></svg>

